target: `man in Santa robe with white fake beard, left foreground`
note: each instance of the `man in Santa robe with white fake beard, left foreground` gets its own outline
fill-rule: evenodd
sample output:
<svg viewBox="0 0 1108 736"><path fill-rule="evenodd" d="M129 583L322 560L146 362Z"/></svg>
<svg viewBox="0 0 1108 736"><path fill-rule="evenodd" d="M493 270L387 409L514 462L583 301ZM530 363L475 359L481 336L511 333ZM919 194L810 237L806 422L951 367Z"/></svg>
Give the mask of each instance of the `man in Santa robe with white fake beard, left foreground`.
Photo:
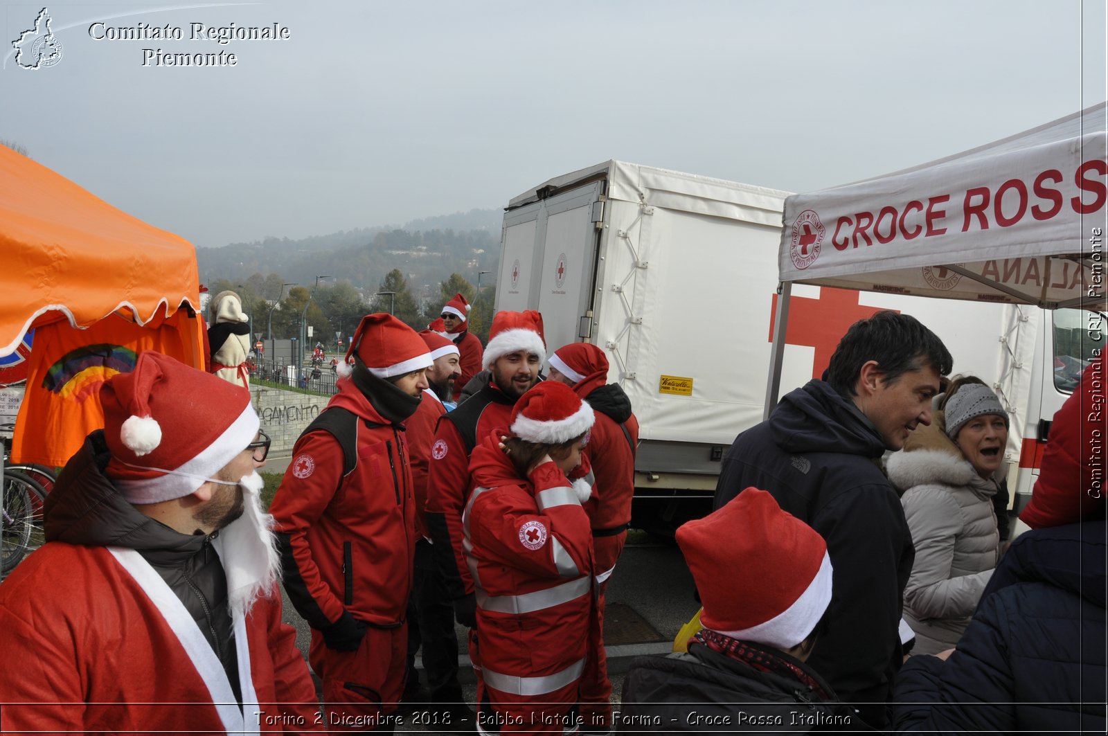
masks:
<svg viewBox="0 0 1108 736"><path fill-rule="evenodd" d="M100 400L104 429L47 501L47 544L0 585L4 729L318 729L249 392L146 351Z"/></svg>

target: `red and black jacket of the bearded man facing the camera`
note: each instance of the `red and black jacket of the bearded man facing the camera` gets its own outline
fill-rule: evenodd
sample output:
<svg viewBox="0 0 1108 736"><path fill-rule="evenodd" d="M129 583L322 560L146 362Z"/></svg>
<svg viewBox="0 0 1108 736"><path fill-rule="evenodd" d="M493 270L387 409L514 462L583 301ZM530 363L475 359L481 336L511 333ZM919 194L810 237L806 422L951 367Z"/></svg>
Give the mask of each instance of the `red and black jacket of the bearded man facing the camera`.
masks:
<svg viewBox="0 0 1108 736"><path fill-rule="evenodd" d="M514 406L513 398L490 384L441 417L435 429L428 472L427 524L451 599L473 592L462 550L462 511L472 488L470 453L478 438L511 423Z"/></svg>

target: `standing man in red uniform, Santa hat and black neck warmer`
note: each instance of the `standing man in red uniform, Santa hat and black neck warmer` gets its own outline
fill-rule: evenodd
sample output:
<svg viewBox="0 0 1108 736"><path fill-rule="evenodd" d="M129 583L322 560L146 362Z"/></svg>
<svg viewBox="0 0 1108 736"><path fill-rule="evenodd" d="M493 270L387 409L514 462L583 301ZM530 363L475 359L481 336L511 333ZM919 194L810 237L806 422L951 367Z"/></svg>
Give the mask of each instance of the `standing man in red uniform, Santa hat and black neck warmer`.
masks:
<svg viewBox="0 0 1108 736"><path fill-rule="evenodd" d="M332 730L391 732L397 723L416 545L403 422L431 364L396 317L362 318L338 393L296 441L274 498L285 590L311 626L308 658Z"/></svg>

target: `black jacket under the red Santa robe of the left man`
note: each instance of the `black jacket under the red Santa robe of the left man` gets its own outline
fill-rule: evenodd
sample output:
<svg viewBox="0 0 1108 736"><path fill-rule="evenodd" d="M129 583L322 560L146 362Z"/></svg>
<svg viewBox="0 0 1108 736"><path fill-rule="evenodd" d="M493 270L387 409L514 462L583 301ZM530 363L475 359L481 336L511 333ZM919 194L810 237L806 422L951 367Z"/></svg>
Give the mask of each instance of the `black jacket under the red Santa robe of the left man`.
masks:
<svg viewBox="0 0 1108 736"><path fill-rule="evenodd" d="M192 614L242 698L227 576L214 535L182 534L136 511L104 476L110 459L103 430L89 435L47 497L47 541L138 552Z"/></svg>

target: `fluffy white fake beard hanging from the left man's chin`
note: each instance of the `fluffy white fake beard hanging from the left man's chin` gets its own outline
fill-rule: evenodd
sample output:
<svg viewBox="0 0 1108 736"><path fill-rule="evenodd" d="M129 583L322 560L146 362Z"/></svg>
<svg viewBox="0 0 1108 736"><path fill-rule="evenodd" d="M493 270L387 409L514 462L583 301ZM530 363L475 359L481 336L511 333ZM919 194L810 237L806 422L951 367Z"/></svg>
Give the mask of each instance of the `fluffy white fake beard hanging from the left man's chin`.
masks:
<svg viewBox="0 0 1108 736"><path fill-rule="evenodd" d="M227 600L234 617L249 613L255 601L271 592L281 572L274 518L261 510L265 481L254 471L243 477L238 487L243 489L243 515L219 532Z"/></svg>

